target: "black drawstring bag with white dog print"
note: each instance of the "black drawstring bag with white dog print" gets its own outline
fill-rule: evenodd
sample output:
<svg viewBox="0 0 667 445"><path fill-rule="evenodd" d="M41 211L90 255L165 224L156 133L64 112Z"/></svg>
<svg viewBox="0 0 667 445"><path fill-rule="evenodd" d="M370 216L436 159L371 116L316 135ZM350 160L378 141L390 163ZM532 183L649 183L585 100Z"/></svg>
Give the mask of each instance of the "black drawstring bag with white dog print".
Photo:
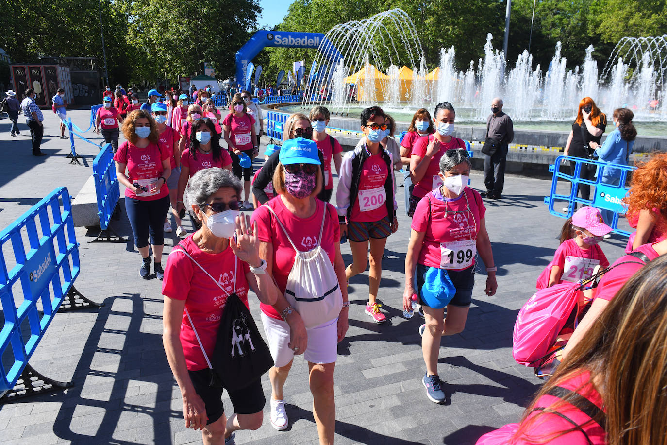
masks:
<svg viewBox="0 0 667 445"><path fill-rule="evenodd" d="M181 246L181 244L178 246ZM199 266L227 295L211 358L206 356L190 314L187 309L185 310L185 314L190 320L190 326L192 326L197 342L199 342L199 348L201 348L209 367L209 385L213 388L225 388L227 390L230 388L245 388L263 376L273 366L271 350L261 338L255 320L253 320L250 311L241 302L236 292L230 295L201 264L185 251L183 246L179 250Z"/></svg>

